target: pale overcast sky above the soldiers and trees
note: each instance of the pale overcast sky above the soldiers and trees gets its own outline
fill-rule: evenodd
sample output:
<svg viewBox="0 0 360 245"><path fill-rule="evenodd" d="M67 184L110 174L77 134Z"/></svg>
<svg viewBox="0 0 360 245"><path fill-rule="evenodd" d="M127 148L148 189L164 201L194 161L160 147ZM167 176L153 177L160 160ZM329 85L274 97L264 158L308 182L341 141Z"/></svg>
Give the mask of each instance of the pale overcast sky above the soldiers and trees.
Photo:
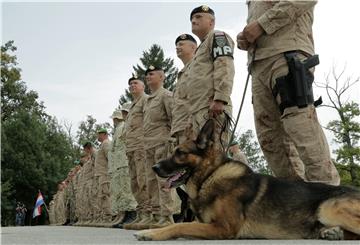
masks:
<svg viewBox="0 0 360 245"><path fill-rule="evenodd" d="M2 44L15 41L23 81L39 93L46 111L59 122L71 123L75 133L86 115L99 123L111 122L132 66L152 44L159 44L165 56L182 68L174 41L182 33L191 33L190 12L202 4L214 9L216 29L235 40L246 25L245 1L3 1L1 40ZM359 5L356 0L322 0L316 5L313 31L320 65L315 81L324 81L333 66L339 71L346 66L344 77L360 76ZM245 52L235 51L234 117L247 76L246 57ZM314 94L326 97L318 88ZM360 103L359 84L346 96ZM328 108L319 108L318 114L324 126L337 119ZM254 130L250 87L239 121L239 130L247 129ZM326 135L332 148L336 147L332 134Z"/></svg>

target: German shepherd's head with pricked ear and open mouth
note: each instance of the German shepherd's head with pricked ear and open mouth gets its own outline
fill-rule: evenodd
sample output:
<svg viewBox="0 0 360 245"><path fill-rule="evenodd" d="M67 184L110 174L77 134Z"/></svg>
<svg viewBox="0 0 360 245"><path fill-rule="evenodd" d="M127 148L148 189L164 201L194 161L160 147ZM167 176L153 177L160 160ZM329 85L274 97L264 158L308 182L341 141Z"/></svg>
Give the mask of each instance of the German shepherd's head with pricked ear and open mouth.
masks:
<svg viewBox="0 0 360 245"><path fill-rule="evenodd" d="M208 120L195 141L187 140L180 144L170 158L152 167L158 176L167 178L167 188L185 184L194 172L201 168L213 148L214 128L215 121Z"/></svg>

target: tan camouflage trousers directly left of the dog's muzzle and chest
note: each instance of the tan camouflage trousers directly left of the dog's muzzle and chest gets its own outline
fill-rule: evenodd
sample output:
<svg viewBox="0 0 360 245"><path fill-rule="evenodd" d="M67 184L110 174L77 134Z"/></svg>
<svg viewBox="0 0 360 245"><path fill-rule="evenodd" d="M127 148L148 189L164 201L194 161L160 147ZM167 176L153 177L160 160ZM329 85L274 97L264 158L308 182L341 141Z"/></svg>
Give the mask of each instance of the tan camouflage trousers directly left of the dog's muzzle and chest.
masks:
<svg viewBox="0 0 360 245"><path fill-rule="evenodd" d="M175 190L164 190L166 179L160 178L152 170L152 166L165 159L168 154L167 144L162 144L145 151L146 187L149 199L147 210L153 214L169 216L179 212L180 201Z"/></svg>

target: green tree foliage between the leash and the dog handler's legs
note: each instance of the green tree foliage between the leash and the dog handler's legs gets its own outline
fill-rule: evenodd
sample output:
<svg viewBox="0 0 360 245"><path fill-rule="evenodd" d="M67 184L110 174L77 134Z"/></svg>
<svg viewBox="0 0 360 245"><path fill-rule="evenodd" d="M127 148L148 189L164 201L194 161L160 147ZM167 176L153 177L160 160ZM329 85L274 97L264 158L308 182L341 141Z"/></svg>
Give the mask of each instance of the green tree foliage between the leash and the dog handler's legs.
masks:
<svg viewBox="0 0 360 245"><path fill-rule="evenodd" d="M236 135L235 141L239 143L240 149L244 152L249 167L261 174L271 174L271 170L252 130L249 129L240 135Z"/></svg>

